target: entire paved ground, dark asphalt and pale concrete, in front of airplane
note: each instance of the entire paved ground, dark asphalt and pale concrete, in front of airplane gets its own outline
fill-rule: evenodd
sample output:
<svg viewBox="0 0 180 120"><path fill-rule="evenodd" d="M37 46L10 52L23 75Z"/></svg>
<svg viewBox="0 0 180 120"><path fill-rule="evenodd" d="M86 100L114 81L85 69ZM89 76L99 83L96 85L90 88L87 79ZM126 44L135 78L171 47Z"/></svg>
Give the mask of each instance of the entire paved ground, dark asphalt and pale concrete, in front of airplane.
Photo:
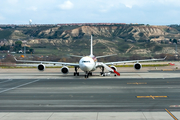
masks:
<svg viewBox="0 0 180 120"><path fill-rule="evenodd" d="M89 79L83 73L0 71L2 120L174 119L168 111L180 118L178 71L124 72L120 77L94 73Z"/></svg>

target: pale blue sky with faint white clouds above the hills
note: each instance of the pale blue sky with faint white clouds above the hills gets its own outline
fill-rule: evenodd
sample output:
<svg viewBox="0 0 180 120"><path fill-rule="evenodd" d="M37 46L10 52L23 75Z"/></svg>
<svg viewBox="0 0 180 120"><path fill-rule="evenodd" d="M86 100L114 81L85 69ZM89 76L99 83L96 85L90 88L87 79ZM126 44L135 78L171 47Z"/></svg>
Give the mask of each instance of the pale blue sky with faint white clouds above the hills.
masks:
<svg viewBox="0 0 180 120"><path fill-rule="evenodd" d="M1 0L0 24L180 24L180 0Z"/></svg>

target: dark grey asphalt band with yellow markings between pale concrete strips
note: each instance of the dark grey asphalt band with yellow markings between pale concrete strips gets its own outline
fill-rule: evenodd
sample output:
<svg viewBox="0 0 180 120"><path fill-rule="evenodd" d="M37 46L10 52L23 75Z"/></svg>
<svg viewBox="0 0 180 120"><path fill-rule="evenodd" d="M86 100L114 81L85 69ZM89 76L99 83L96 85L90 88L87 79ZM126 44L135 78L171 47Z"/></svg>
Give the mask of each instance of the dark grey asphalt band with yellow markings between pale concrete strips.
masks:
<svg viewBox="0 0 180 120"><path fill-rule="evenodd" d="M180 78L0 79L0 112L165 109L180 111Z"/></svg>

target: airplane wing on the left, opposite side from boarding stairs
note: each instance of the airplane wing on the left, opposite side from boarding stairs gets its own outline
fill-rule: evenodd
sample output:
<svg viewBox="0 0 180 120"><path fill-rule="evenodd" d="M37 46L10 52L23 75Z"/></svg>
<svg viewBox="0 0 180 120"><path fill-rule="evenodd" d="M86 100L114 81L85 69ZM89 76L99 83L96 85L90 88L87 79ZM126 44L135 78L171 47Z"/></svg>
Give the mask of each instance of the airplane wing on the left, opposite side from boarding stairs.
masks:
<svg viewBox="0 0 180 120"><path fill-rule="evenodd" d="M50 61L31 61L31 60L17 60L15 57L14 59L16 62L25 62L25 63L39 63L39 64L53 64L53 66L57 65L65 65L65 66L74 66L79 67L78 63L66 63L66 62L50 62Z"/></svg>

